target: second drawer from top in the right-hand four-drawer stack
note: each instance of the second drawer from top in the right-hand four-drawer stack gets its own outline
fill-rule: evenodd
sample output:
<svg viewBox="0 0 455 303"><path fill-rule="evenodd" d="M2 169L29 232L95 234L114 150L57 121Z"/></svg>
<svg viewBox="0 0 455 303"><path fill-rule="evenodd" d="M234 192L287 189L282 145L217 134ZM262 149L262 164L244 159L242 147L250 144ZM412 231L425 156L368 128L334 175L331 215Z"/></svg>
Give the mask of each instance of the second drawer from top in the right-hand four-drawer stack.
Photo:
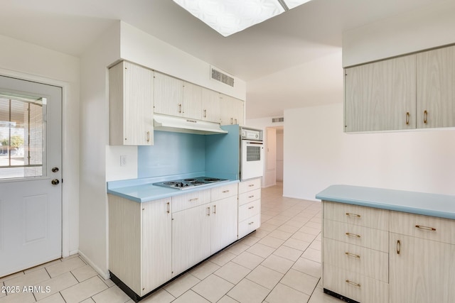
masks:
<svg viewBox="0 0 455 303"><path fill-rule="evenodd" d="M385 253L389 251L388 231L324 219L323 236Z"/></svg>

